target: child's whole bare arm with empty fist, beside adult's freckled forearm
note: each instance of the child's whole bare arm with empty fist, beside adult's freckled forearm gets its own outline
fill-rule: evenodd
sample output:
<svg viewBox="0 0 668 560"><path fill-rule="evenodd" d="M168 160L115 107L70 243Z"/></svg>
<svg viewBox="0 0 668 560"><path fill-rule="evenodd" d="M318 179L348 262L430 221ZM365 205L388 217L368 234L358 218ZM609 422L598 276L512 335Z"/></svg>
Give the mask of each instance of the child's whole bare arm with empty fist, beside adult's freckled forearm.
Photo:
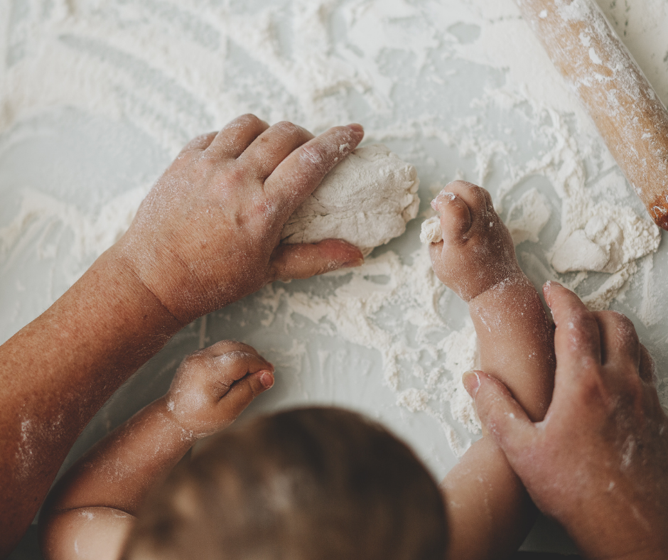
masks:
<svg viewBox="0 0 668 560"><path fill-rule="evenodd" d="M47 560L117 559L146 492L200 438L274 384L253 348L222 341L183 360L167 394L99 441L55 485L40 516Z"/></svg>

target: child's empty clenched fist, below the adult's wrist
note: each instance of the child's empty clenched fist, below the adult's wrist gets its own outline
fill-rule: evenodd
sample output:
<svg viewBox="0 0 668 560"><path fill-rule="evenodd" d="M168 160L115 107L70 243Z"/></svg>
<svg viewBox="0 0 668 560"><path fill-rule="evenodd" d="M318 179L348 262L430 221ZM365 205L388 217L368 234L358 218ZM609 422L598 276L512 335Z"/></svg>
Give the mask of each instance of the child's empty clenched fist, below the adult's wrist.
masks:
<svg viewBox="0 0 668 560"><path fill-rule="evenodd" d="M183 360L165 395L168 411L196 437L226 428L274 384L274 366L254 348L222 340Z"/></svg>

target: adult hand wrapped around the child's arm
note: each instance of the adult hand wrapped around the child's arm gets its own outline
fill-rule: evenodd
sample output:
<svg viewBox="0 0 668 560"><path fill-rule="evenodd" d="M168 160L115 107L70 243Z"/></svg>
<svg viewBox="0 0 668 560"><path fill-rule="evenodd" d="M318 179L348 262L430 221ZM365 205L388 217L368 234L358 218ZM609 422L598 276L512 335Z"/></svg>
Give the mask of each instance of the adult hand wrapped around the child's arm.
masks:
<svg viewBox="0 0 668 560"><path fill-rule="evenodd" d="M465 374L464 385L536 505L585 556L665 559L668 417L650 355L620 313L591 313L554 282L544 294L557 364L544 421L532 423L483 372Z"/></svg>

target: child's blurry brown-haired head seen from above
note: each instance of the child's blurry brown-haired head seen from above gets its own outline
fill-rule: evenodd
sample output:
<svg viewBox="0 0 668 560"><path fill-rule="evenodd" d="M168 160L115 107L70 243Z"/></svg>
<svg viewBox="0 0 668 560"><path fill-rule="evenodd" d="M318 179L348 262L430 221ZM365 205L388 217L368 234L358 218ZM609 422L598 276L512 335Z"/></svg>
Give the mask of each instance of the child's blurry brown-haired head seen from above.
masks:
<svg viewBox="0 0 668 560"><path fill-rule="evenodd" d="M225 431L146 500L128 559L443 559L438 486L359 414L264 416Z"/></svg>

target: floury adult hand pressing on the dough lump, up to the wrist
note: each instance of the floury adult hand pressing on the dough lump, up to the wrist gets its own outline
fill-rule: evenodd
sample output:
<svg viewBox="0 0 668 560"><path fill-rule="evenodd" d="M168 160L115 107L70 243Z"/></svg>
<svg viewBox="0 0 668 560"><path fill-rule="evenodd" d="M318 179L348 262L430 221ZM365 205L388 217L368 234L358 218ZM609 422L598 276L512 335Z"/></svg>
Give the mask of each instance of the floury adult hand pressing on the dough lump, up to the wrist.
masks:
<svg viewBox="0 0 668 560"><path fill-rule="evenodd" d="M114 250L182 323L276 279L361 264L359 249L340 240L279 246L279 237L362 136L359 124L314 138L288 122L238 117L183 148Z"/></svg>

